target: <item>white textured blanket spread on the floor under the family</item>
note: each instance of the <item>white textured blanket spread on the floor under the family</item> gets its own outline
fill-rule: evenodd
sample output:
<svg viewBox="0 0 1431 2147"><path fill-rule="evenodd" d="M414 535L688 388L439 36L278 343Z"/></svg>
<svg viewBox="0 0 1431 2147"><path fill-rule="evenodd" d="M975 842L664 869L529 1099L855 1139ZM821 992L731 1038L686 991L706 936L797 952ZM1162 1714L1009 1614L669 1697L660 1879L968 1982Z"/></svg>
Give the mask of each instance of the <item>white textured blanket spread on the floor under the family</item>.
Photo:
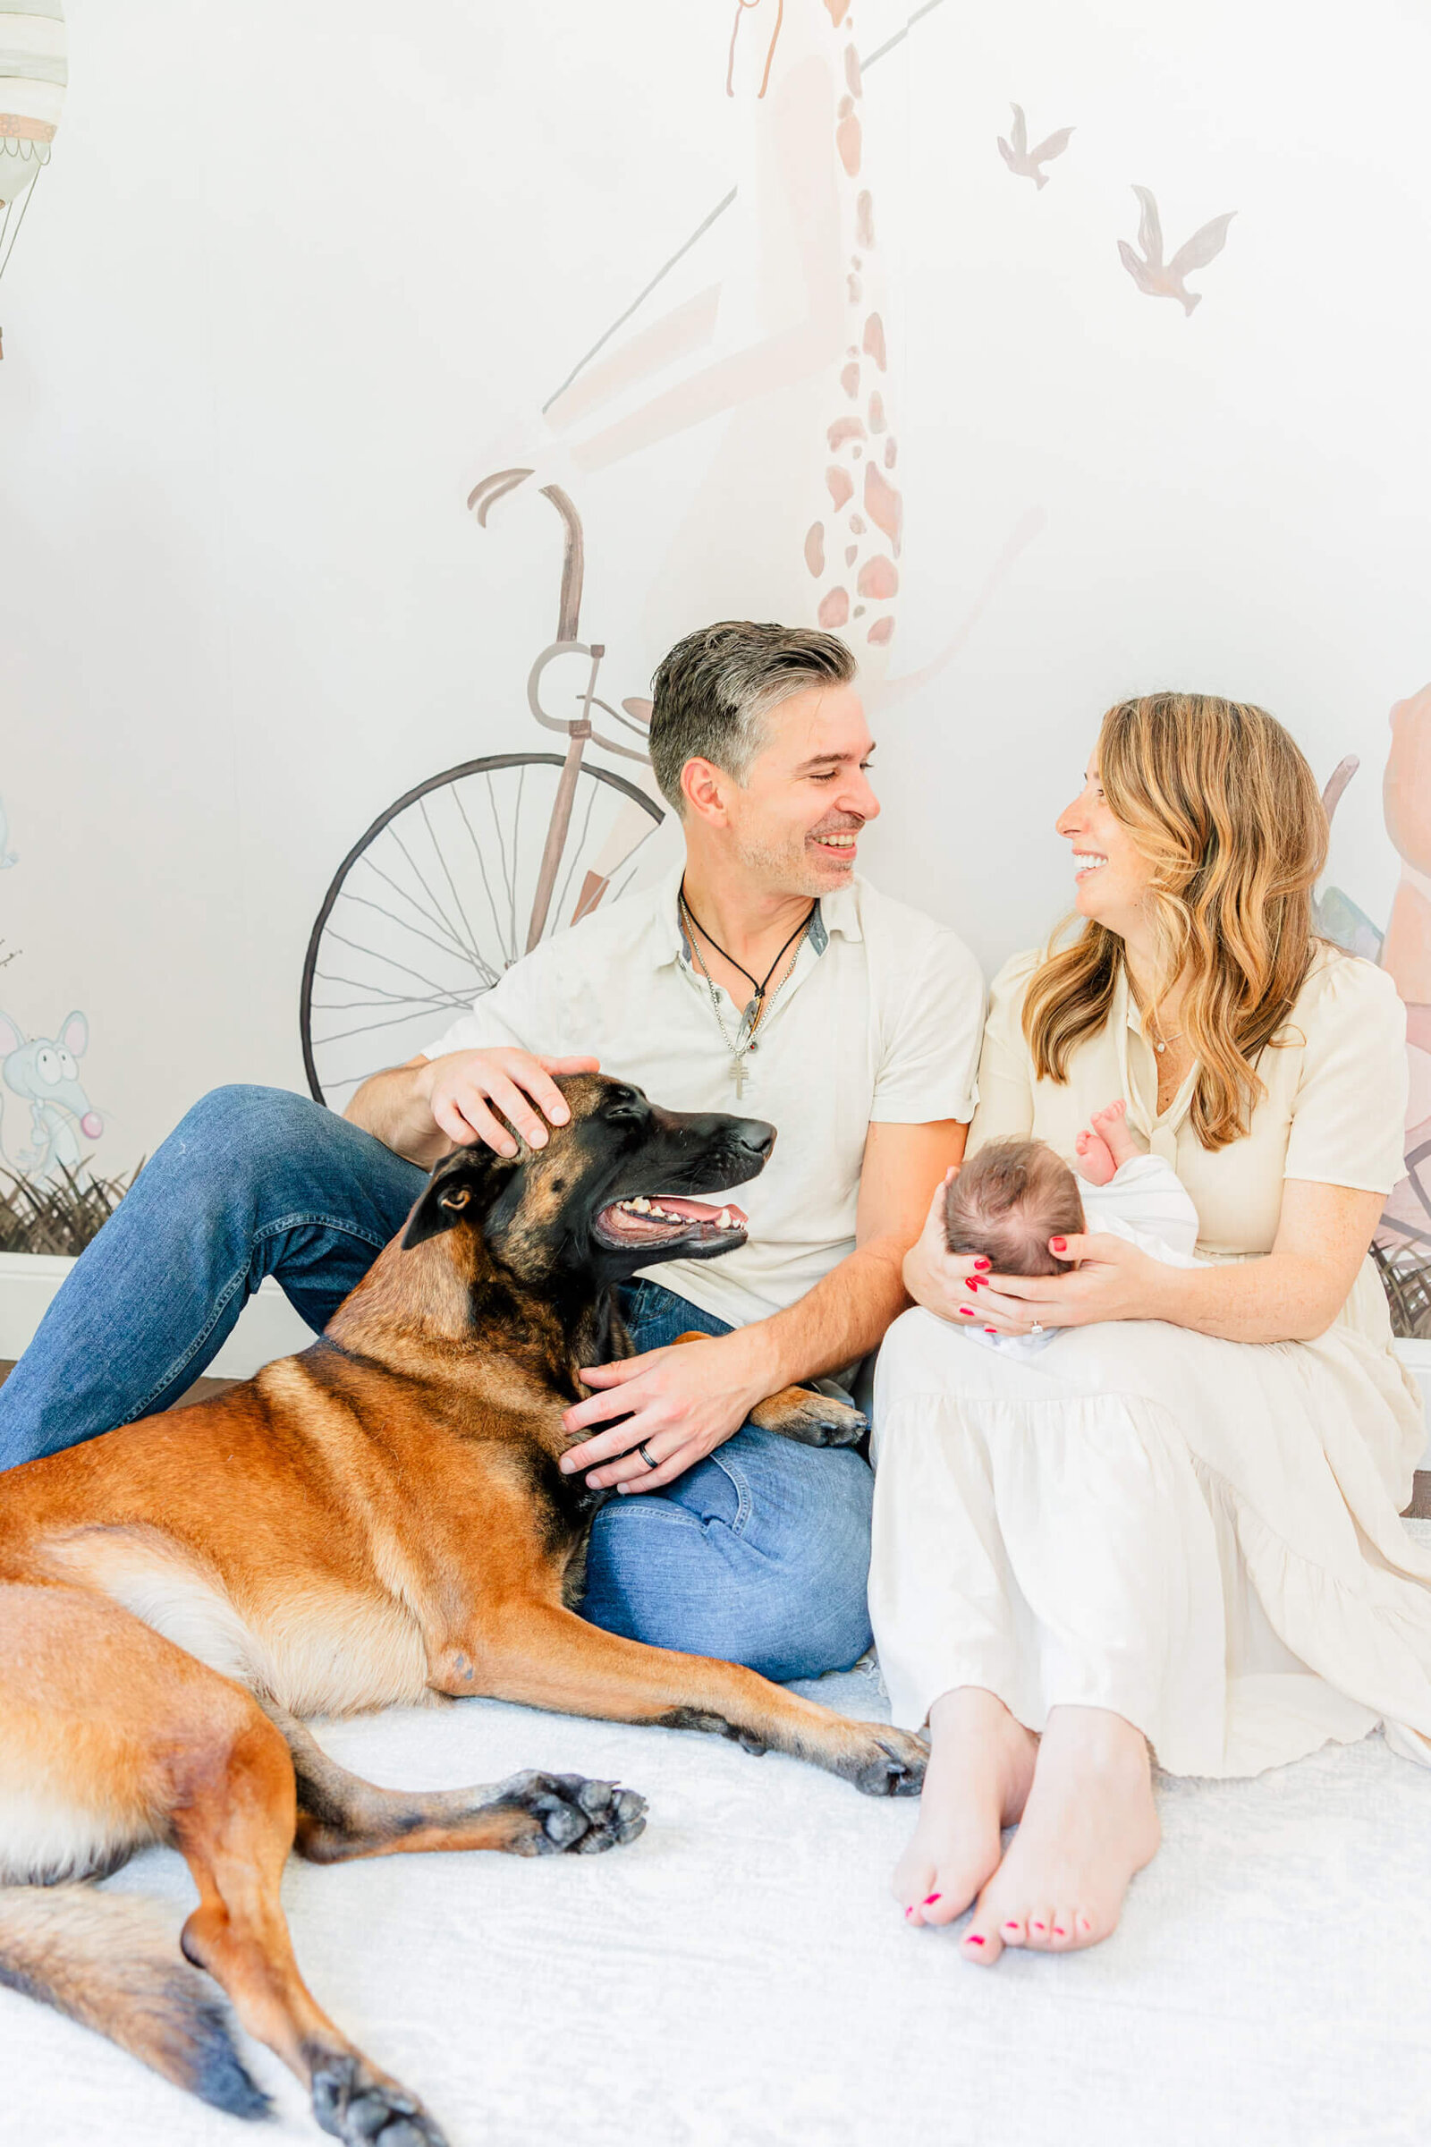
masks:
<svg viewBox="0 0 1431 2147"><path fill-rule="evenodd" d="M800 1690L884 1713L871 1670ZM1165 1846L1116 1937L993 1971L903 1928L888 1872L914 1806L794 1761L483 1700L320 1737L384 1784L547 1767L650 1797L641 1840L603 1857L290 1864L313 1992L453 2147L1431 2136L1431 1776L1380 1737L1253 1782L1163 1782ZM193 1902L169 1851L109 1885L176 1924ZM245 2048L279 2111L251 2132L0 1992L0 2141L315 2147L296 2083Z"/></svg>

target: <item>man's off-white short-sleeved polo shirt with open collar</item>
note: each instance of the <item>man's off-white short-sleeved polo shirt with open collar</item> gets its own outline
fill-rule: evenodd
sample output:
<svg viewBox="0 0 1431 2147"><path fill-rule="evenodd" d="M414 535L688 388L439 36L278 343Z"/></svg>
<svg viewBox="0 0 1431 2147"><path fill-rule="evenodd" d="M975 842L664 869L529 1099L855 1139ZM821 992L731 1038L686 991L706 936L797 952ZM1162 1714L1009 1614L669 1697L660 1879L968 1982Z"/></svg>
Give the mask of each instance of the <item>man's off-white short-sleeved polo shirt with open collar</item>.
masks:
<svg viewBox="0 0 1431 2147"><path fill-rule="evenodd" d="M588 1052L667 1110L768 1119L774 1153L734 1192L751 1235L717 1260L667 1260L650 1280L732 1327L805 1297L854 1252L865 1136L974 1116L985 988L946 925L854 878L824 895L794 973L757 1031L736 1099L729 1046L693 962L680 872L558 932L425 1048L517 1043ZM721 992L734 1037L740 1009Z"/></svg>

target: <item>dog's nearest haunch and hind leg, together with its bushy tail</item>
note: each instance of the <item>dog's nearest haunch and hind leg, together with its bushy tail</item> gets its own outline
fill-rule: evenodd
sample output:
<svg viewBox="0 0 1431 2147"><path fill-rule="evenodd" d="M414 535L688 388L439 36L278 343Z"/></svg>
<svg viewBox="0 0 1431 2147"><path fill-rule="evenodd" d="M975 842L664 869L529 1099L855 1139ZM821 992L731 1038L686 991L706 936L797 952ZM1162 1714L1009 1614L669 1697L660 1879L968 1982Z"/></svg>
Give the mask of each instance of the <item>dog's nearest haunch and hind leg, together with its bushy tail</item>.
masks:
<svg viewBox="0 0 1431 2147"><path fill-rule="evenodd" d="M200 1889L182 1954L298 2074L320 2126L348 2147L442 2147L298 1973L279 1902L294 1816L287 1748L249 1692L90 1589L0 1587L0 1872L49 1876L67 1840L86 1855L174 1842ZM193 2093L260 2115L217 1995L114 1900L67 1887L47 1913L0 1892L0 1977Z"/></svg>

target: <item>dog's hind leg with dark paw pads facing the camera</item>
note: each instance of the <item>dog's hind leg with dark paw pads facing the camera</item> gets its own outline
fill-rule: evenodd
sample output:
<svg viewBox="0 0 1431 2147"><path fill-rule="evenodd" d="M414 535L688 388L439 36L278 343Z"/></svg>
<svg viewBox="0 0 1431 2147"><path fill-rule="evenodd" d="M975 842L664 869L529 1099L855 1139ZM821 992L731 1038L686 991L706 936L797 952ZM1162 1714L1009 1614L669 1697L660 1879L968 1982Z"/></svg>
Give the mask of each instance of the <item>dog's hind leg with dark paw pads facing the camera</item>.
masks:
<svg viewBox="0 0 1431 2147"><path fill-rule="evenodd" d="M515 1857L594 1855L633 1842L646 1799L579 1773L515 1773L483 1788L375 1788L328 1758L313 1733L264 1703L298 1782L298 1855L313 1864L421 1849L498 1849Z"/></svg>

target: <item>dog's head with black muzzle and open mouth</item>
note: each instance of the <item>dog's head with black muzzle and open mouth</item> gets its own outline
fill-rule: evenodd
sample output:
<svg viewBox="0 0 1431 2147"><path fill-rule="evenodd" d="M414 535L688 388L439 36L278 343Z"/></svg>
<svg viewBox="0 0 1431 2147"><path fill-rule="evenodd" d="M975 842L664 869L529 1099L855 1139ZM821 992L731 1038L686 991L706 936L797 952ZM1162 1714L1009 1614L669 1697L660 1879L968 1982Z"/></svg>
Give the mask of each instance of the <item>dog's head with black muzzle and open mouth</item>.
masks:
<svg viewBox="0 0 1431 2147"><path fill-rule="evenodd" d="M481 1237L523 1282L605 1288L659 1260L714 1260L744 1245L747 1217L710 1198L766 1166L774 1127L725 1112L661 1110L633 1082L558 1080L571 1121L545 1149L457 1149L423 1187L403 1250L444 1230Z"/></svg>

